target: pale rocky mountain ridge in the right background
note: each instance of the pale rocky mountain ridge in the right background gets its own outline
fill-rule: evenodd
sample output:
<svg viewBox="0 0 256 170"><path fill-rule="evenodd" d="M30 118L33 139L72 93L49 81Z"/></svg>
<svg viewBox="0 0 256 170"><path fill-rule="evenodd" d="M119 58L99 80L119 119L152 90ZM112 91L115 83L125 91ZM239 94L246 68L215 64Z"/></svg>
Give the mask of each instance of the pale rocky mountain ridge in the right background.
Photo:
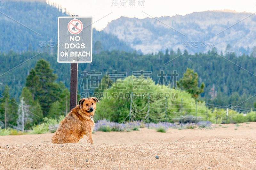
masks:
<svg viewBox="0 0 256 170"><path fill-rule="evenodd" d="M224 52L229 44L231 49L228 50L242 55L256 46L255 26L256 15L252 13L204 11L160 18L120 17L108 23L103 31L116 35L144 54L166 48L196 53L215 47L218 52Z"/></svg>

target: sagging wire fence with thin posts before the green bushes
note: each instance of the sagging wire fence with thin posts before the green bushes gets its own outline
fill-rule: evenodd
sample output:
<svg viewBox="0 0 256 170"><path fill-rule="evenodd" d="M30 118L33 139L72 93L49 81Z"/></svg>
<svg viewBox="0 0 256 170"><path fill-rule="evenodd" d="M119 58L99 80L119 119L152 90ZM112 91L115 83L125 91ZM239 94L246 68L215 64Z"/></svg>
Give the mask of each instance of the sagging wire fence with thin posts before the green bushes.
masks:
<svg viewBox="0 0 256 170"><path fill-rule="evenodd" d="M139 95L131 97L130 112L124 121L129 117L130 121L149 122L199 122L211 121L217 123L231 123L232 116L240 113L246 114L256 111L253 108L234 106L220 106L205 102L186 103L181 100L159 99L151 100L147 95L140 95L144 98L137 99ZM123 121L123 122L124 122Z"/></svg>

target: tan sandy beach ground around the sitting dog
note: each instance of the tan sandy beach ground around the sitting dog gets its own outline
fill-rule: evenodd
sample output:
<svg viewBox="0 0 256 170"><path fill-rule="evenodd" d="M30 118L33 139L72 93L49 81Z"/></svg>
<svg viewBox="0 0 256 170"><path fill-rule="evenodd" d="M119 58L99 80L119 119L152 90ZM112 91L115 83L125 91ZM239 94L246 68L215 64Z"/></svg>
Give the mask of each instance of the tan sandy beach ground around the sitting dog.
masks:
<svg viewBox="0 0 256 170"><path fill-rule="evenodd" d="M147 128L98 131L93 134L95 144L51 144L51 137L1 136L0 170L256 169L256 122L166 133Z"/></svg>

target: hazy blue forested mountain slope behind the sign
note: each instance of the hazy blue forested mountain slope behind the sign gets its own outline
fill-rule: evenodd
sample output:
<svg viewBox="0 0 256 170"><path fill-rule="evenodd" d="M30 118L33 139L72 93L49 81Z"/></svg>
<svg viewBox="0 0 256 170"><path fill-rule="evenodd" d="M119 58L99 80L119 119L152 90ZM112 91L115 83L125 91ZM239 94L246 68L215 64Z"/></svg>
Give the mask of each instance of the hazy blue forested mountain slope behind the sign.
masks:
<svg viewBox="0 0 256 170"><path fill-rule="evenodd" d="M0 1L1 52L56 51L58 17L70 16L66 9L46 1ZM93 45L101 42L102 50L133 51L115 35L93 29ZM54 46L54 48L48 48Z"/></svg>

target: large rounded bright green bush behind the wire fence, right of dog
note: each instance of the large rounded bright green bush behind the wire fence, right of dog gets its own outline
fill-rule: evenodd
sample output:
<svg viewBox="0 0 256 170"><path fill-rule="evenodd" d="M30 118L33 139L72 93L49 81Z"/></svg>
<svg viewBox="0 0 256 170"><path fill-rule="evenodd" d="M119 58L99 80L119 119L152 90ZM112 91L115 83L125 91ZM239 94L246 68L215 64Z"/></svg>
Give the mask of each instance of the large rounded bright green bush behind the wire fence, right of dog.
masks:
<svg viewBox="0 0 256 170"><path fill-rule="evenodd" d="M120 83L122 82L122 83ZM142 85L142 82L147 82L150 88L146 85ZM196 108L195 99L192 98L191 94L188 92L182 91L180 89L172 89L167 85L157 85L150 78L142 77L135 77L129 76L124 79L117 79L114 84L118 84L120 88L123 90L114 88L115 85L111 86L108 89L105 89L103 92L103 96L100 100L100 103L97 104L97 118L100 119L107 119L110 122L123 122L124 120L128 120L127 115L130 113L130 104L131 104L131 92L133 92L132 102L136 106L136 110L139 111L142 115L135 115L135 120L143 120L145 118L141 118L141 116L145 117L145 112L147 111L148 107L145 107L148 103L148 94L150 94L150 101L149 102L149 115L156 114L159 117L163 117L165 115L164 109L162 106L165 106L165 98L161 97L160 94L170 94L171 97L167 99L167 107L172 108L171 110L168 109L167 112L167 122L175 122L171 118L177 116L176 113L180 113L180 115L185 114L186 112L194 113ZM113 96L113 94L115 94ZM136 96L139 94L147 94L142 96ZM96 94L97 95L97 94ZM175 97L176 96L176 97ZM178 97L178 98L177 98ZM180 104L184 102L183 110L180 109ZM187 106L185 106L185 104ZM189 105L188 105L189 104ZM199 106L200 105L200 106ZM206 107L204 103L200 103L197 105L197 116L205 115ZM184 112L184 113L183 113ZM201 113L200 113L201 112ZM153 116L152 116L153 117ZM211 116L211 111L209 111L209 120ZM195 120L195 122L199 122L200 120ZM150 122L157 123L158 120L151 119ZM141 127L143 128L143 127Z"/></svg>

